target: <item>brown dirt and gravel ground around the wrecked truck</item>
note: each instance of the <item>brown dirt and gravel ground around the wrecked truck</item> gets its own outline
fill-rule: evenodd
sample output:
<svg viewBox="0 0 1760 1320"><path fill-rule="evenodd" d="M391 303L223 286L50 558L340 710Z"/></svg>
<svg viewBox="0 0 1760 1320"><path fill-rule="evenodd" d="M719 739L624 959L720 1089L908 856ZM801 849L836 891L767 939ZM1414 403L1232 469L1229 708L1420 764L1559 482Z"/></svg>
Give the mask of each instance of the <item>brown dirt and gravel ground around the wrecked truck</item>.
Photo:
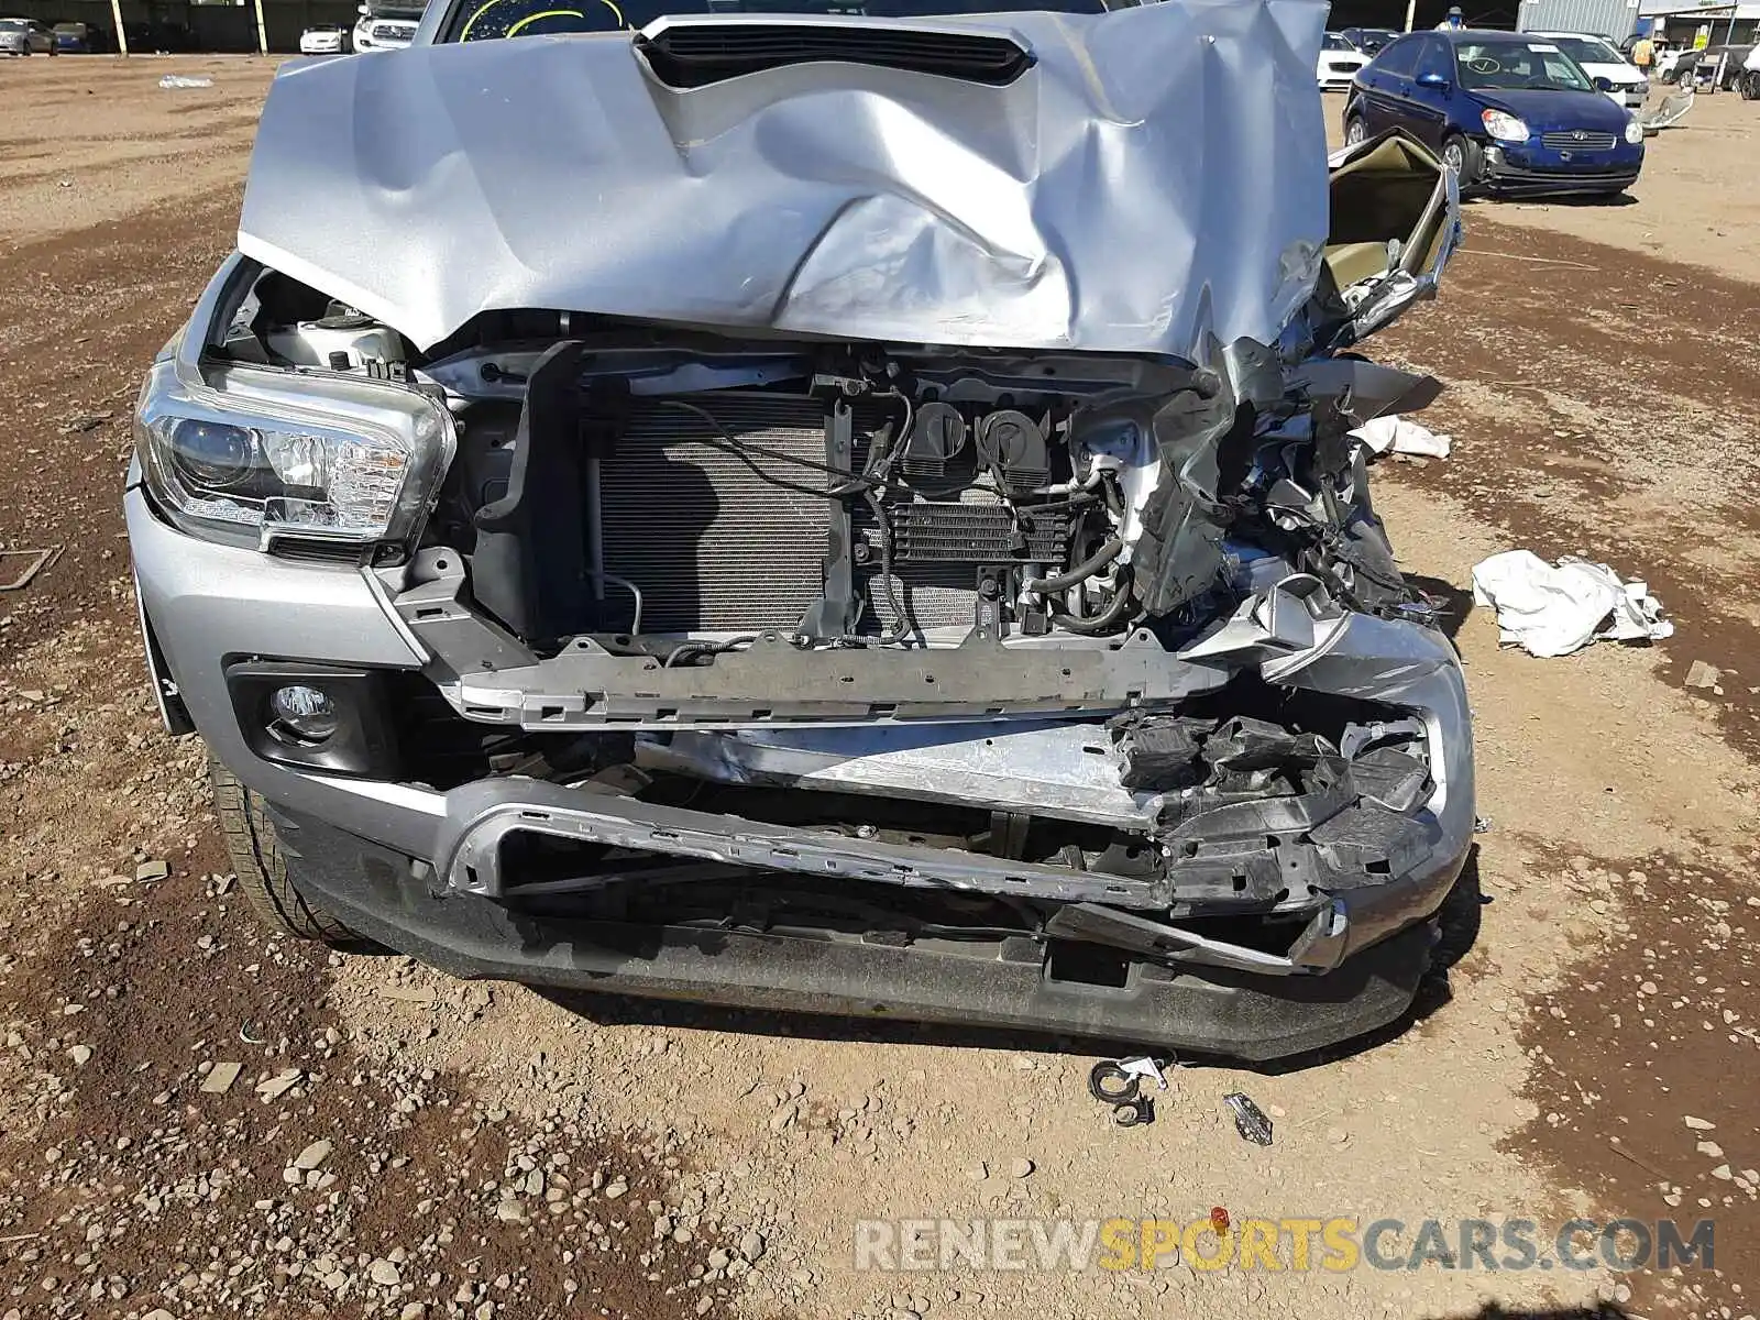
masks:
<svg viewBox="0 0 1760 1320"><path fill-rule="evenodd" d="M1760 183L1723 171L1760 106L1702 100L1632 204L1470 206L1440 304L1375 341L1448 384L1424 421L1456 442L1378 488L1475 700L1487 831L1448 966L1373 1040L1181 1068L1118 1130L1091 1042L540 996L259 935L201 746L150 709L118 491L141 368L231 245L268 76L0 65L0 547L62 547L0 595L0 1320L1755 1313ZM1468 577L1517 546L1646 577L1676 637L1500 649ZM1232 1089L1271 1148L1236 1137ZM857 1220L1213 1207L1544 1237L1714 1218L1716 1253L854 1267Z"/></svg>

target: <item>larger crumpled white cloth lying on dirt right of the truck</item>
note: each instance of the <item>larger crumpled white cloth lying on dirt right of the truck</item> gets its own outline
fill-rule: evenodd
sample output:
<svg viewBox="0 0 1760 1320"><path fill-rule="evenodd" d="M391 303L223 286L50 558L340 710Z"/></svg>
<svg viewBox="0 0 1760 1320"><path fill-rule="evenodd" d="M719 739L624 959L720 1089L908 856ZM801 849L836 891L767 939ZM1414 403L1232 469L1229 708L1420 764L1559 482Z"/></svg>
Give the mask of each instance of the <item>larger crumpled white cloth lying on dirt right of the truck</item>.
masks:
<svg viewBox="0 0 1760 1320"><path fill-rule="evenodd" d="M1570 655L1596 639L1674 635L1644 583L1568 554L1556 565L1529 551L1492 554L1473 565L1473 602L1496 609L1500 641L1538 656Z"/></svg>

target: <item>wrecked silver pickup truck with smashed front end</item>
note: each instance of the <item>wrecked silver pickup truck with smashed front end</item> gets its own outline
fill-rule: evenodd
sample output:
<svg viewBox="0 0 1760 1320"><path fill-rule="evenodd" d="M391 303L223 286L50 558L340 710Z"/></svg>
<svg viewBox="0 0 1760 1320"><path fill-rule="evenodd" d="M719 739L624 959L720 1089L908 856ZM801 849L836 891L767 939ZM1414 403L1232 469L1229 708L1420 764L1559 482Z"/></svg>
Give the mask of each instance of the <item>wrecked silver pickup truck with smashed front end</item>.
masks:
<svg viewBox="0 0 1760 1320"><path fill-rule="evenodd" d="M245 892L556 987L1396 1019L1471 730L1350 436L1436 382L1353 347L1454 176L1327 160L1320 0L660 4L275 79L125 496Z"/></svg>

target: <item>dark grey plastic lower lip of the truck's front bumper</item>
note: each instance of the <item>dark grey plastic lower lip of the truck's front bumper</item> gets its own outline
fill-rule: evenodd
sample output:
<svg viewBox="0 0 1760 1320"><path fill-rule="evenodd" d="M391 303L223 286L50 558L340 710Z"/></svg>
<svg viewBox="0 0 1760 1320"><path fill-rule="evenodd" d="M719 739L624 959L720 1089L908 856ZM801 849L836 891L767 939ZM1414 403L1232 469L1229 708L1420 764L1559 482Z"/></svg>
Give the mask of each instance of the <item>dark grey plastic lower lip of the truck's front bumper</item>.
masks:
<svg viewBox="0 0 1760 1320"><path fill-rule="evenodd" d="M1172 972L1126 984L1058 980L1028 942L980 959L920 947L528 915L414 884L408 859L322 822L275 813L301 889L352 929L456 977L686 1000L767 1012L947 1023L1274 1060L1396 1021L1429 966L1412 926L1322 977Z"/></svg>

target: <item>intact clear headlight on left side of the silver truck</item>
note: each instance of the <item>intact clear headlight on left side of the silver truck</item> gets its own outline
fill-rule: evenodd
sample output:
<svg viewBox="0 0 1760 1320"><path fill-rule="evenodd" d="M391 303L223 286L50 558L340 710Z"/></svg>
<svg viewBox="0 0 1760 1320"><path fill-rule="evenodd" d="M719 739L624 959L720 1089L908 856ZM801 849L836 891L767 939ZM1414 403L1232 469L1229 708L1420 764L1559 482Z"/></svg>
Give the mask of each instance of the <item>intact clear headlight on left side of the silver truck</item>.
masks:
<svg viewBox="0 0 1760 1320"><path fill-rule="evenodd" d="M452 458L452 419L424 394L370 380L220 368L188 391L153 366L136 447L162 505L199 535L405 542Z"/></svg>

